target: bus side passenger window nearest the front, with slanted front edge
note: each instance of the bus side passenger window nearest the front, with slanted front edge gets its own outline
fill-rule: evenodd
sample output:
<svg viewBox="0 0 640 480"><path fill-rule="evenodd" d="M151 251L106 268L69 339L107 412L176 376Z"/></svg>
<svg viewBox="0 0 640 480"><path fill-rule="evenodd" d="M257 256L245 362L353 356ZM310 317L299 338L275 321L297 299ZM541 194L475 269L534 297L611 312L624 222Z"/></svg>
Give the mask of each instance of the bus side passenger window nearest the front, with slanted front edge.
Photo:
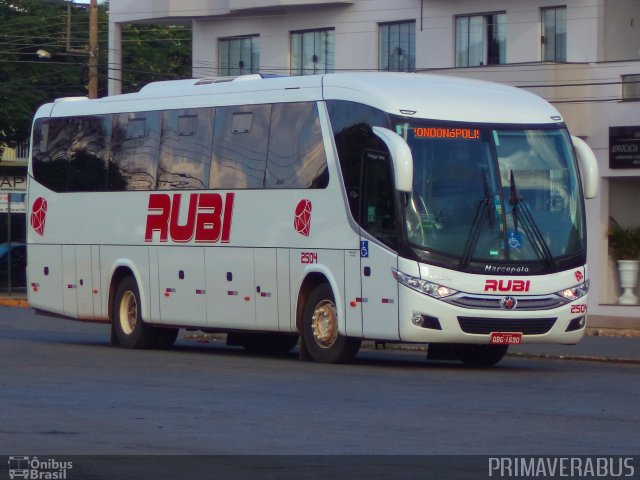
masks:
<svg viewBox="0 0 640 480"><path fill-rule="evenodd" d="M279 103L271 110L267 188L325 188L327 157L315 103Z"/></svg>

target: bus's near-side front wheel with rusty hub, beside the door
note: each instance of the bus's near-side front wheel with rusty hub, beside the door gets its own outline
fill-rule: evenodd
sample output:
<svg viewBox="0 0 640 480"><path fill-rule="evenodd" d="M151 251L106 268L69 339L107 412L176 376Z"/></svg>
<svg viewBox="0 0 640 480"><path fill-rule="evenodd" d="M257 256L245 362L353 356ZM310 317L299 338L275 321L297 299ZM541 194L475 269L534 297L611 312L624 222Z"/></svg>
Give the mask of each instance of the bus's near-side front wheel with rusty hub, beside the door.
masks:
<svg viewBox="0 0 640 480"><path fill-rule="evenodd" d="M305 304L302 339L308 356L316 362L346 363L358 354L362 339L338 332L335 299L327 283L317 286Z"/></svg>

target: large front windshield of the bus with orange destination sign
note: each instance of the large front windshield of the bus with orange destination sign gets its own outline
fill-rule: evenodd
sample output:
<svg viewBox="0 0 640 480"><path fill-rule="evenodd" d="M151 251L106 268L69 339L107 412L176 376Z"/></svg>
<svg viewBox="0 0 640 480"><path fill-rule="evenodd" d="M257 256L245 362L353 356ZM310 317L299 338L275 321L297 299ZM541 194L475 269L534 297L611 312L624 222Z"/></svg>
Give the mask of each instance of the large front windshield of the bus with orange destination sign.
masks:
<svg viewBox="0 0 640 480"><path fill-rule="evenodd" d="M541 262L584 252L580 187L564 128L396 124L411 147L405 235L470 262Z"/></svg>

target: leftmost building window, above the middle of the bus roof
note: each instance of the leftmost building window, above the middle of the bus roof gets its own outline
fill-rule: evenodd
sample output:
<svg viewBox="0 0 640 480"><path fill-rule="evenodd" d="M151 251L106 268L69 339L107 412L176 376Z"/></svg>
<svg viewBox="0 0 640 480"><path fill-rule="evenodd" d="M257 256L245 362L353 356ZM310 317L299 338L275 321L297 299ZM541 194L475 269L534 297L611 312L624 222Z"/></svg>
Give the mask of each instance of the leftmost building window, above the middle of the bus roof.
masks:
<svg viewBox="0 0 640 480"><path fill-rule="evenodd" d="M221 38L218 40L220 75L235 76L260 71L260 42L258 35Z"/></svg>

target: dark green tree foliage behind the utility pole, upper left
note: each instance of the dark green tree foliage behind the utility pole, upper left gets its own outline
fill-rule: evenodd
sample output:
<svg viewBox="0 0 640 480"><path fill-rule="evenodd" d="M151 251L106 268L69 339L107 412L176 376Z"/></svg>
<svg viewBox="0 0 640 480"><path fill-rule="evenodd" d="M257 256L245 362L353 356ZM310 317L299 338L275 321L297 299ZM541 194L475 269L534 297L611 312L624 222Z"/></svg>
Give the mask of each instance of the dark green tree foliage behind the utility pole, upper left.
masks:
<svg viewBox="0 0 640 480"><path fill-rule="evenodd" d="M86 96L89 12L74 6L67 41L65 0L0 0L0 153L29 138L37 108L56 98ZM107 94L108 2L98 8L98 96ZM191 75L191 30L184 26L125 25L122 91ZM68 47L72 52L69 53ZM50 54L40 58L39 50ZM80 51L80 52L78 52Z"/></svg>

